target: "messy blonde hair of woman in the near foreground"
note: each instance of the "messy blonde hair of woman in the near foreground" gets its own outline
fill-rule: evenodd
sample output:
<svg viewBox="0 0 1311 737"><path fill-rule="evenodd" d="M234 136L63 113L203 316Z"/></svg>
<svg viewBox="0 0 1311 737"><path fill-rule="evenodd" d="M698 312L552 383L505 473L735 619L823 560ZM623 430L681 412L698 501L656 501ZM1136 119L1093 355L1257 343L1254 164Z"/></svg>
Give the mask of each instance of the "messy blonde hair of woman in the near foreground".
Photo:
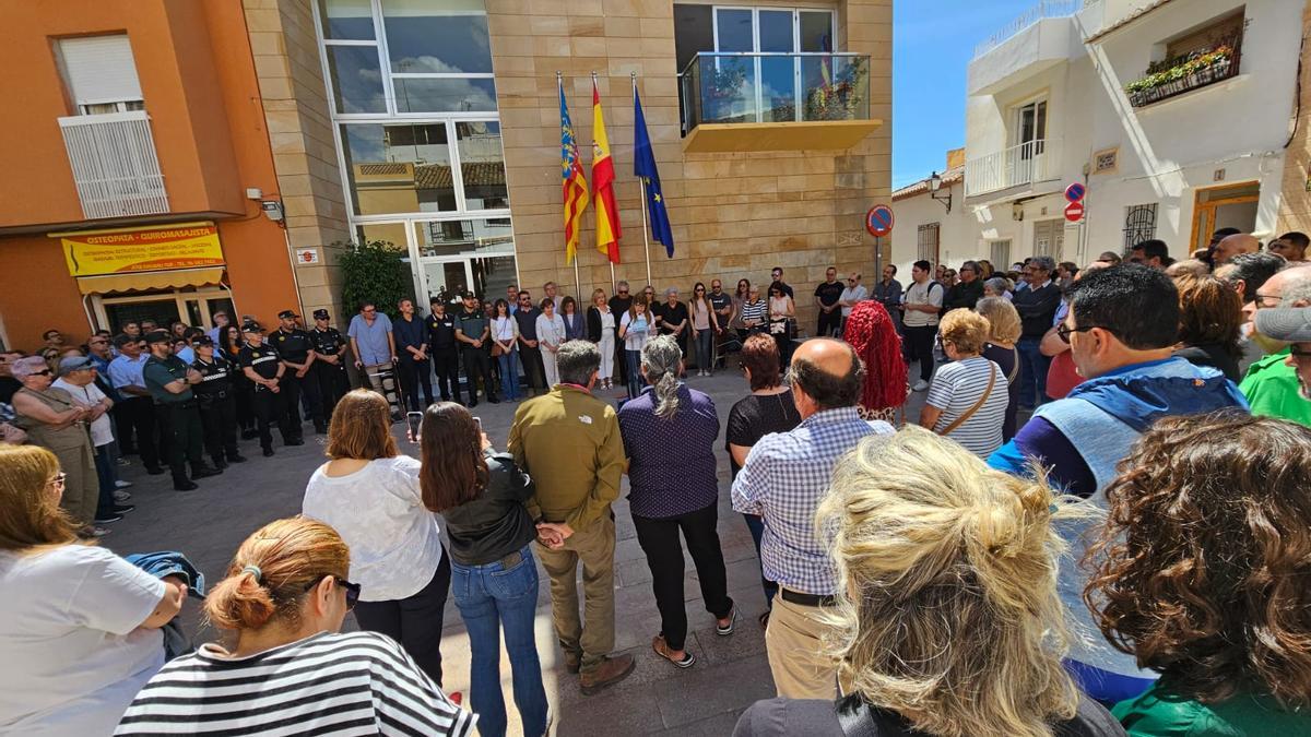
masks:
<svg viewBox="0 0 1311 737"><path fill-rule="evenodd" d="M861 441L815 514L843 682L943 737L1046 737L1071 719L1051 522L1088 513L1058 501L1041 475L994 471L918 426Z"/></svg>

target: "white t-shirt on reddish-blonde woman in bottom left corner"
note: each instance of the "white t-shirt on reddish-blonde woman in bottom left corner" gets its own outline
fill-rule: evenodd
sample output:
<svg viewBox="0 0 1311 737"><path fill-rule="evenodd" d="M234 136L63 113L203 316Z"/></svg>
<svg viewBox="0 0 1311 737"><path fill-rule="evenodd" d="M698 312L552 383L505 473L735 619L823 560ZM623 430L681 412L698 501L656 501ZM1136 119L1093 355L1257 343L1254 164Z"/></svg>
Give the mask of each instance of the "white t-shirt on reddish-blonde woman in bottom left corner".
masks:
<svg viewBox="0 0 1311 737"><path fill-rule="evenodd" d="M164 665L164 636L139 626L166 590L101 547L0 552L0 734L113 733Z"/></svg>

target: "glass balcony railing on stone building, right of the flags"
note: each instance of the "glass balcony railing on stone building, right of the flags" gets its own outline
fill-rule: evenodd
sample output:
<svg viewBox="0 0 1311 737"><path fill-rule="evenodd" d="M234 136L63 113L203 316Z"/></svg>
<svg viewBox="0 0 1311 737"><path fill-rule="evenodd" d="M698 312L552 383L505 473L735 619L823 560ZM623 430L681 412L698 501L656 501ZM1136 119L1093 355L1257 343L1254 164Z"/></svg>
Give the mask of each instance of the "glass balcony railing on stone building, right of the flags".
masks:
<svg viewBox="0 0 1311 737"><path fill-rule="evenodd" d="M680 75L684 132L701 123L869 119L869 56L697 54Z"/></svg>

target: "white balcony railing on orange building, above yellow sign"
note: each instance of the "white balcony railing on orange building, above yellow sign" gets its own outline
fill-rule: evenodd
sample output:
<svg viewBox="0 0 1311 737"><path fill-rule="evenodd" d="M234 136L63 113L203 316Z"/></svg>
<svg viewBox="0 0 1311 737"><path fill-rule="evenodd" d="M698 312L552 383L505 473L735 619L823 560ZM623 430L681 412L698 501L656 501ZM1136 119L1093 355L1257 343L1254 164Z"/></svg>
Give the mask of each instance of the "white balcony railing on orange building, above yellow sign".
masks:
<svg viewBox="0 0 1311 737"><path fill-rule="evenodd" d="M83 216L168 212L164 174L143 110L59 118Z"/></svg>

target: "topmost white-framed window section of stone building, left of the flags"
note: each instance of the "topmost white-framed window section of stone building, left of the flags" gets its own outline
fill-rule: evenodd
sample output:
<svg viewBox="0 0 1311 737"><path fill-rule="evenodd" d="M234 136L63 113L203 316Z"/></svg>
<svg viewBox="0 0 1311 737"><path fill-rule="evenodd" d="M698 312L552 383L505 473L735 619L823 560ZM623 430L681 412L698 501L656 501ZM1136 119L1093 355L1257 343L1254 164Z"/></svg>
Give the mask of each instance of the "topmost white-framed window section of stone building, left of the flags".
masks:
<svg viewBox="0 0 1311 737"><path fill-rule="evenodd" d="M482 0L317 0L334 110L497 109Z"/></svg>

